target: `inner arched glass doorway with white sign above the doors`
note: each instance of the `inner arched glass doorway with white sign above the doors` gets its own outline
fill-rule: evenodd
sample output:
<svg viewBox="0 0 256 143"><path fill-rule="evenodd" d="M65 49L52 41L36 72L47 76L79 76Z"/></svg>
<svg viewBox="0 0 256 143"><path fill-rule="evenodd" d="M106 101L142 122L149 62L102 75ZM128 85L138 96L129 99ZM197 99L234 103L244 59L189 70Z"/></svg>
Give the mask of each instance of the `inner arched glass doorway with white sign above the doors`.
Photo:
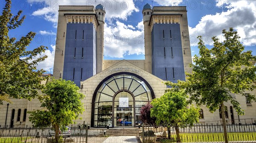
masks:
<svg viewBox="0 0 256 143"><path fill-rule="evenodd" d="M118 93L113 105L114 126L134 126L134 98L125 91Z"/></svg>

